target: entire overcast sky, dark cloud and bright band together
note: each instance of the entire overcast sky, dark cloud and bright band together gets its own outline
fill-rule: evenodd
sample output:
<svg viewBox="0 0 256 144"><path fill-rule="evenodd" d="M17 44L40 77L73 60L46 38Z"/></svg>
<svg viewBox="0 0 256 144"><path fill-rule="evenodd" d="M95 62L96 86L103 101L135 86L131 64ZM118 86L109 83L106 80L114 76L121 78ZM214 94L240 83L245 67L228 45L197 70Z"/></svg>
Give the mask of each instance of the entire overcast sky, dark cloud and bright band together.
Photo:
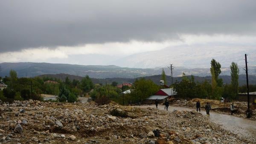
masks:
<svg viewBox="0 0 256 144"><path fill-rule="evenodd" d="M106 65L198 45L256 53L256 0L0 1L0 62Z"/></svg>

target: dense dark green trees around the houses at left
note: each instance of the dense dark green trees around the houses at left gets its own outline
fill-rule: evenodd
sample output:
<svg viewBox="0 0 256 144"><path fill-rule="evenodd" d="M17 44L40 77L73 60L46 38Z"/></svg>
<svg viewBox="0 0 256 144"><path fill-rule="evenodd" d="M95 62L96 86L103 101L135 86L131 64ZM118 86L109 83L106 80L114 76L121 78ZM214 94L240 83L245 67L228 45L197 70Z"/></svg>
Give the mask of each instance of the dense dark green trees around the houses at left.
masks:
<svg viewBox="0 0 256 144"><path fill-rule="evenodd" d="M40 100L43 101L41 94L58 95L59 101L74 102L82 95L86 95L93 89L94 85L89 76L82 78L81 81L74 79L70 81L68 77L65 81L57 78L34 77L18 78L15 70L10 70L9 76L0 78L7 86L0 91L2 101L13 100ZM47 81L54 81L47 83Z"/></svg>

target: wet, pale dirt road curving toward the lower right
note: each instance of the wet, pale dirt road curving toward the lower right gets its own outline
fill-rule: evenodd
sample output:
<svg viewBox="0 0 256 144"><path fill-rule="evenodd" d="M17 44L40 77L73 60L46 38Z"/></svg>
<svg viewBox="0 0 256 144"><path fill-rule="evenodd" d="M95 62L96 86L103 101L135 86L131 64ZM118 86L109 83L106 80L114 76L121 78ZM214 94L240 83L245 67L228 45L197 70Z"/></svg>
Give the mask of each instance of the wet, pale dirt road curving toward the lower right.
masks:
<svg viewBox="0 0 256 144"><path fill-rule="evenodd" d="M142 108L147 107L155 107L155 105L150 106L140 106ZM159 105L158 109L164 110L164 106ZM196 110L196 109L190 109L185 107L175 107L170 106L168 111L172 112L173 110ZM204 109L201 109L201 114L206 115L206 112ZM210 112L210 116L207 116L210 121L221 124L222 127L226 130L230 130L231 132L243 136L243 137L256 137L256 121L250 121L248 119L244 118L238 118L231 115L223 115L215 112Z"/></svg>

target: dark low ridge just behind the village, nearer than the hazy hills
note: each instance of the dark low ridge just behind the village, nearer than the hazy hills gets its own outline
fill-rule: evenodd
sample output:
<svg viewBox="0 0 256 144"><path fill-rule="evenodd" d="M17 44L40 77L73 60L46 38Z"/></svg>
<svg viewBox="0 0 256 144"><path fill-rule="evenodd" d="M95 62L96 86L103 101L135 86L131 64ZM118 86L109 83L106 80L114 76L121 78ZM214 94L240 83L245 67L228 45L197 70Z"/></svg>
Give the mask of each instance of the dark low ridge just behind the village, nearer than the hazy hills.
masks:
<svg viewBox="0 0 256 144"><path fill-rule="evenodd" d="M41 77L41 78L43 78L43 77L57 78L62 81L65 81L66 77L68 77L71 81L73 81L73 79L81 81L81 79L83 78L81 76L68 75L68 74L54 74L54 75L48 74L48 75L39 75L39 77ZM191 78L191 76L188 76L188 77ZM155 84L160 84L161 75L146 76L143 78L150 79L150 80L154 81ZM226 84L230 84L230 82L231 82L231 77L228 75L221 75L220 78L222 78L223 82ZM99 83L105 84L106 82L108 84L111 84L113 81L116 81L118 84L122 84L122 83L134 83L136 78L104 78L104 79L91 78L91 80L93 81L94 84L99 84ZM174 83L176 81L181 81L181 80L182 80L181 77L173 78ZM210 76L207 76L207 77L195 76L196 82L202 82L205 80L211 81L211 77ZM166 76L166 81L167 81L167 85L171 85L171 76ZM250 84L256 84L256 76L249 75L249 82L250 82ZM246 84L246 75L239 75L239 85L241 86L241 85L245 85L245 84Z"/></svg>

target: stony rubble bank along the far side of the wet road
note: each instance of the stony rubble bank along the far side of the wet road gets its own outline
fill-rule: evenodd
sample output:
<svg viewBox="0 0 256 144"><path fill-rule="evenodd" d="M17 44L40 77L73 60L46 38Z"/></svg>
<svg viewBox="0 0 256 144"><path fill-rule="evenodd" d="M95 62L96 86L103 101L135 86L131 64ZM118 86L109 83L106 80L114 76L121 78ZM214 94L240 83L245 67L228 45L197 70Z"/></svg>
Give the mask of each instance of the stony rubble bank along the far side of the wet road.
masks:
<svg viewBox="0 0 256 144"><path fill-rule="evenodd" d="M171 101L171 104L174 106L195 108L196 102L198 100L201 102L201 109L203 109L203 110L204 110L204 106L206 105L206 103L209 102L209 104L211 104L212 111L218 112L221 114L226 114L226 115L231 114L230 113L230 105L232 104L232 102L221 103L220 101L216 101L216 100L194 98L191 101L173 99ZM239 102L239 101L234 101L233 103L234 103L234 107L235 107L234 116L237 116L239 118L246 118L245 111L247 110L247 103ZM256 120L256 105L251 105L250 109L252 109L252 117L250 118L250 120Z"/></svg>

